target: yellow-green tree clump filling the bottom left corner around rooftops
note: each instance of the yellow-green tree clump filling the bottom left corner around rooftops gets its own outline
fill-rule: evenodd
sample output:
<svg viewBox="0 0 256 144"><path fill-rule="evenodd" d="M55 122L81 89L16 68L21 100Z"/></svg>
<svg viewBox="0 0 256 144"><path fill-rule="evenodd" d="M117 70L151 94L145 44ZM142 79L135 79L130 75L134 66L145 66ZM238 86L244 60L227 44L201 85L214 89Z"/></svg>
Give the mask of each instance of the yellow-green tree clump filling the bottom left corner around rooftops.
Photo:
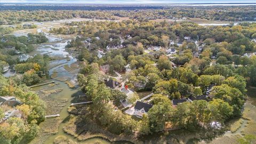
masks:
<svg viewBox="0 0 256 144"><path fill-rule="evenodd" d="M9 95L21 102L15 109L20 117L10 117L6 121L2 119L5 117L3 111L12 108L7 105L0 107L1 143L27 143L33 140L39 131L38 124L44 121L45 103L26 85L17 82L19 81L15 78L5 78L0 75L0 95Z"/></svg>

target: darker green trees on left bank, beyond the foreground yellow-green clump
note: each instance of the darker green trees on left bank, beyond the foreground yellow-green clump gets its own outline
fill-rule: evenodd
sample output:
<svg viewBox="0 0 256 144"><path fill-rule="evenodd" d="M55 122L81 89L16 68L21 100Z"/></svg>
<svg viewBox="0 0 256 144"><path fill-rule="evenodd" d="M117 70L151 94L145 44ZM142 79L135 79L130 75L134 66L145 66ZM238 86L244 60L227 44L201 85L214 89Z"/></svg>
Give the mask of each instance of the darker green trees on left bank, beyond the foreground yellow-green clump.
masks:
<svg viewBox="0 0 256 144"><path fill-rule="evenodd" d="M14 58L14 55L22 55L34 51L35 44L47 42L44 34L28 34L28 36L16 37L14 35L1 36L0 42L0 69L11 66L17 75L14 77L16 84L33 85L41 81L41 77L48 74L47 66L50 57L47 54L37 54L22 61Z"/></svg>

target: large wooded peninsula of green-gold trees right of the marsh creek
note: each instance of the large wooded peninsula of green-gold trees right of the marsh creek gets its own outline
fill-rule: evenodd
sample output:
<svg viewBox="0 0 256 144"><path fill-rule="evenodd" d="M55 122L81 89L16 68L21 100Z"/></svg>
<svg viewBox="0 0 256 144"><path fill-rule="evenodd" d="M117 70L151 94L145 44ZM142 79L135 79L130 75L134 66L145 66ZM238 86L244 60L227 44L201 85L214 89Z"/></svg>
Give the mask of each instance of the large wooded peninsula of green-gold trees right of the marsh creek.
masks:
<svg viewBox="0 0 256 144"><path fill-rule="evenodd" d="M168 123L190 131L213 130L212 122L224 126L230 118L242 115L246 83L256 84L256 56L246 56L246 53L256 51L253 41L255 23L203 27L191 22L129 20L71 22L67 26L52 29L52 33L82 35L67 46L76 47L78 59L83 61L78 82L93 101L93 111L97 111L95 117L108 129L115 125L119 133L147 135L164 131ZM114 39L117 39L116 45L123 39L124 48L108 50L106 47ZM169 41L175 44L171 45ZM162 50L146 53L151 46L161 46ZM165 52L168 47L174 47L178 52L170 57ZM97 57L99 49L106 52L102 58ZM105 65L109 65L110 73L126 71L129 65L131 71L126 71L123 76L125 85L134 91L154 92L149 102L153 108L139 123L123 116L119 110L110 112L114 108L109 102L114 101L113 105L118 107L120 103L116 101L123 98L114 97L106 87L103 81L106 76L100 71ZM173 108L173 99L204 95L206 87L212 84L210 101L183 102ZM117 118L116 115L122 119L121 123L112 120Z"/></svg>

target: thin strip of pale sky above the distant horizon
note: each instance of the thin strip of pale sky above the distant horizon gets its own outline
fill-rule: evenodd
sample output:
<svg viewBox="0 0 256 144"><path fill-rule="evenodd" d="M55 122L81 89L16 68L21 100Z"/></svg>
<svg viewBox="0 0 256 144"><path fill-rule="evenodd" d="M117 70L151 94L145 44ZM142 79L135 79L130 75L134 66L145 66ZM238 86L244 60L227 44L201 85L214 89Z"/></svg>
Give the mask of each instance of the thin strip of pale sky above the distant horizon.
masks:
<svg viewBox="0 0 256 144"><path fill-rule="evenodd" d="M188 4L188 3L256 3L256 0L0 0L1 3L84 3L84 4Z"/></svg>

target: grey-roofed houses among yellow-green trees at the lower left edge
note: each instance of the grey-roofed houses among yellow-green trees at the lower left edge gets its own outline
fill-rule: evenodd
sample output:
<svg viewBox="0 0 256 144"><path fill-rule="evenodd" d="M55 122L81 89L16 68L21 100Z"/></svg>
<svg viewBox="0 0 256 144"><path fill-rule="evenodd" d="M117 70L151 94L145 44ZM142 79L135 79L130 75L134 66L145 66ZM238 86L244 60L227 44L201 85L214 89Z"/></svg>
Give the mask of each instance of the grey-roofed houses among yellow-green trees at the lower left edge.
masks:
<svg viewBox="0 0 256 144"><path fill-rule="evenodd" d="M0 119L0 123L10 117L21 117L22 112L15 107L21 105L22 102L13 96L0 97L0 107L4 110L4 117Z"/></svg>

